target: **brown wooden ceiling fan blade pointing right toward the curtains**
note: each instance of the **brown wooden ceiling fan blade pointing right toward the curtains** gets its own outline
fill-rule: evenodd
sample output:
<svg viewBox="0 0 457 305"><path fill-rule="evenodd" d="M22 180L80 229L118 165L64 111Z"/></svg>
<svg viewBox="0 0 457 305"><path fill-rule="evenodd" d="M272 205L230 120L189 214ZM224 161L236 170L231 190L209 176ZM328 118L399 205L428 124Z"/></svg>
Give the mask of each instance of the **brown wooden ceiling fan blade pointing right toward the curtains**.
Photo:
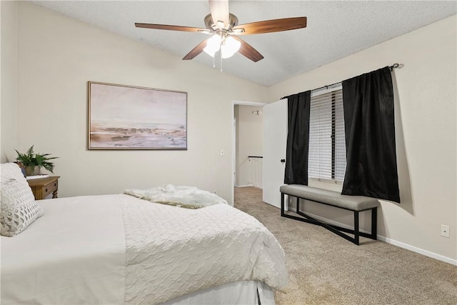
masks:
<svg viewBox="0 0 457 305"><path fill-rule="evenodd" d="M253 22L251 24L241 24L233 27L236 35L273 33L275 31L288 31L306 27L306 17L273 19ZM244 31L241 31L244 29ZM240 31L238 33L238 31Z"/></svg>

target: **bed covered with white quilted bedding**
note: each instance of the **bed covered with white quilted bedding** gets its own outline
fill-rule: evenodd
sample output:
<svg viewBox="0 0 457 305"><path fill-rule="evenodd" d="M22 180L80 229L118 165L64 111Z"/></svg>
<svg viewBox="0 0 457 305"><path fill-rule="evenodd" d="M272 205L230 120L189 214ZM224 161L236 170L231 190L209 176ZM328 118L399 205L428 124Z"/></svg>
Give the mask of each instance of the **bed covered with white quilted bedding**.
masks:
<svg viewBox="0 0 457 305"><path fill-rule="evenodd" d="M11 169L1 164L2 235L6 185L21 180ZM29 202L35 219L1 236L1 304L274 304L283 249L220 200L189 209L130 190Z"/></svg>

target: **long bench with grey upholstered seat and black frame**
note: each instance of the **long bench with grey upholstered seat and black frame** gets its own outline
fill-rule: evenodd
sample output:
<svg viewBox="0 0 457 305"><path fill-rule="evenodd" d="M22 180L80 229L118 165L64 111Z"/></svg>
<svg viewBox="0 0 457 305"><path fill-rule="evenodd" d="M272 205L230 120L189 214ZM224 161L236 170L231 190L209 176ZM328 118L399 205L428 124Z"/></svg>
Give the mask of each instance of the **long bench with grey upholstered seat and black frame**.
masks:
<svg viewBox="0 0 457 305"><path fill-rule="evenodd" d="M377 239L377 209L379 206L378 199L373 199L366 196L348 196L341 195L336 191L328 191L326 189L318 189L316 187L304 186L301 184L288 184L281 186L281 216L287 217L290 219L295 219L299 221L308 222L310 224L316 224L318 226L323 226L324 228L332 231L335 234L347 239L348 241L353 242L354 244L359 244L359 236L368 237L369 239ZM284 211L284 196L293 196L296 197L297 209L296 214L302 216L293 216L286 214ZM300 199L306 199L313 201L319 204L326 204L328 206L336 206L340 209L345 209L353 211L354 214L354 229L346 229L341 226L334 226L332 224L327 224L323 221L315 219L302 211L300 211ZM361 232L358 228L358 214L361 211L371 210L371 234L366 234ZM353 234L354 237L348 236L347 234Z"/></svg>

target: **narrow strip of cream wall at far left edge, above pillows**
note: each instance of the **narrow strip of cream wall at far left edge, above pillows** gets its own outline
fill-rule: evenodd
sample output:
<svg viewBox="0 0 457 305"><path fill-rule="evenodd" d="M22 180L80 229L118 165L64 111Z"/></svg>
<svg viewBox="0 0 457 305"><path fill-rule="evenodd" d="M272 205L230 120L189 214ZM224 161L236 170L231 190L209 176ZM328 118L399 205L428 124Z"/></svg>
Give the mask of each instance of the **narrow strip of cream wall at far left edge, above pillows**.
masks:
<svg viewBox="0 0 457 305"><path fill-rule="evenodd" d="M17 4L0 1L1 27L1 84L0 84L0 163L14 161L5 152L16 147L17 100Z"/></svg>

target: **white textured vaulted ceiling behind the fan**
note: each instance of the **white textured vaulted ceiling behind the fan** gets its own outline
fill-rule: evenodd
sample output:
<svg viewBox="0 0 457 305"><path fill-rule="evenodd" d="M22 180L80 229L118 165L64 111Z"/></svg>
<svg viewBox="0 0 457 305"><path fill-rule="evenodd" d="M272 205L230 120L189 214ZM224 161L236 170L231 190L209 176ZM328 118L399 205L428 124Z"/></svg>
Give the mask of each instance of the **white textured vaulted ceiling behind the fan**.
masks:
<svg viewBox="0 0 457 305"><path fill-rule="evenodd" d="M204 28L208 1L31 1L79 21L184 57L208 36L193 32L139 29L135 22ZM457 14L456 1L230 1L239 24L296 16L305 29L242 38L265 58L241 54L223 61L223 73L270 86L396 36ZM205 53L198 61L213 66ZM216 60L219 69L219 59Z"/></svg>

